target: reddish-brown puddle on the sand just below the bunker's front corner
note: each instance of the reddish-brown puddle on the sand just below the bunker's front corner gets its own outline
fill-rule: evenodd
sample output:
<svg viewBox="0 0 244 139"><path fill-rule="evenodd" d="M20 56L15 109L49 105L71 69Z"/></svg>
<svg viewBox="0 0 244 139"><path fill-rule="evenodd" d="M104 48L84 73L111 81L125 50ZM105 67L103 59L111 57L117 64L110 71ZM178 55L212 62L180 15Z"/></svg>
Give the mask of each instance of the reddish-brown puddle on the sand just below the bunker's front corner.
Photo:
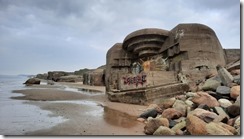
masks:
<svg viewBox="0 0 244 139"><path fill-rule="evenodd" d="M110 125L124 128L130 128L138 124L135 116L131 116L108 107L104 107L103 118Z"/></svg>

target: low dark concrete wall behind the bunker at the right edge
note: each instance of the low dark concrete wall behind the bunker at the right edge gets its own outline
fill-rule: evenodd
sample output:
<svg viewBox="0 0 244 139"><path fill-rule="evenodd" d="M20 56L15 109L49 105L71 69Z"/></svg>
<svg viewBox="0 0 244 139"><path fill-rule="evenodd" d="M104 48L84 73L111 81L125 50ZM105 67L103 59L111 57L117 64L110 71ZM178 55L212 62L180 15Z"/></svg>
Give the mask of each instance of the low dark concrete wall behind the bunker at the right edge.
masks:
<svg viewBox="0 0 244 139"><path fill-rule="evenodd" d="M235 62L241 59L241 50L240 49L224 49L226 55L226 63Z"/></svg>

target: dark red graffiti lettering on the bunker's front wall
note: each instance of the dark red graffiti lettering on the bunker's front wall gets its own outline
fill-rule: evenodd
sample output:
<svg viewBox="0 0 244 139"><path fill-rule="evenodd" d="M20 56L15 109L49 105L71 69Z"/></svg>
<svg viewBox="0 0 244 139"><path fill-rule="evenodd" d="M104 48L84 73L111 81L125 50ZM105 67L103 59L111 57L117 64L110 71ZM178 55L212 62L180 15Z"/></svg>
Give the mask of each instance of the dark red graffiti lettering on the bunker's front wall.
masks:
<svg viewBox="0 0 244 139"><path fill-rule="evenodd" d="M134 84L136 87L141 84L143 85L146 81L147 75L137 75L135 77L123 77L124 85L131 85Z"/></svg>

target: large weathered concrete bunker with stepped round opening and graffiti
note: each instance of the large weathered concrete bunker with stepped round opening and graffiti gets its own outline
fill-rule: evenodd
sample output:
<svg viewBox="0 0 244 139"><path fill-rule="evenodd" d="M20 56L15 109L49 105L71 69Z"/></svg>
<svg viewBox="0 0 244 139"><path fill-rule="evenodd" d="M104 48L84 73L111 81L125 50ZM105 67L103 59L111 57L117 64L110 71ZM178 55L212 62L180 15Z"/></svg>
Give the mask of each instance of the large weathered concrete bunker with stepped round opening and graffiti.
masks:
<svg viewBox="0 0 244 139"><path fill-rule="evenodd" d="M108 50L106 93L111 101L146 104L193 90L199 79L217 74L217 65L226 65L225 52L205 25L141 29Z"/></svg>

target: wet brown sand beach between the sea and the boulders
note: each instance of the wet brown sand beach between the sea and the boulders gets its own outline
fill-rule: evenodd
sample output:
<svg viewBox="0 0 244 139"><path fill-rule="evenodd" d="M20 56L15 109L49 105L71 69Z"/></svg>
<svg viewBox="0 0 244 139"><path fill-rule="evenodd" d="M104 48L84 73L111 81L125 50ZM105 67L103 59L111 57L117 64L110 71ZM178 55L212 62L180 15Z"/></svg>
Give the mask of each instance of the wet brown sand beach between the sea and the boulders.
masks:
<svg viewBox="0 0 244 139"><path fill-rule="evenodd" d="M26 132L26 135L144 135L144 124L136 119L146 106L110 102L104 93L105 87L101 86L60 85L66 88L42 85L14 91L24 96L13 99L31 100L26 103L52 112L49 117L67 119L52 128Z"/></svg>

